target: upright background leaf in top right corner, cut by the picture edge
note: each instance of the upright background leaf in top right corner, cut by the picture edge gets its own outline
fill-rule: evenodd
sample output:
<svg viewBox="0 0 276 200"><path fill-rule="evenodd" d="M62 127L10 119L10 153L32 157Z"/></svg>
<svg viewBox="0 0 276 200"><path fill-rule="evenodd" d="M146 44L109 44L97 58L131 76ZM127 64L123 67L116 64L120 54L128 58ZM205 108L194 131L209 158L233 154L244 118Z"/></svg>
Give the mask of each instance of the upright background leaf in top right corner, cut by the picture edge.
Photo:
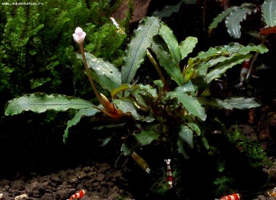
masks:
<svg viewBox="0 0 276 200"><path fill-rule="evenodd" d="M262 14L268 26L276 26L276 1L265 0L262 4Z"/></svg>

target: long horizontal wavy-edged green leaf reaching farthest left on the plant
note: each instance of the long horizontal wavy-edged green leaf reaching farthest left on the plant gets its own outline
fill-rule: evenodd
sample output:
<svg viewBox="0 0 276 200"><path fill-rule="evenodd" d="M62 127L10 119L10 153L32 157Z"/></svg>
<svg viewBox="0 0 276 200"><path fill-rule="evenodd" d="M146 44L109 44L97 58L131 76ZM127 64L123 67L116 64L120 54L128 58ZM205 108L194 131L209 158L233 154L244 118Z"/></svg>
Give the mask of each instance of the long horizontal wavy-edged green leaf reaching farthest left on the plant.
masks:
<svg viewBox="0 0 276 200"><path fill-rule="evenodd" d="M8 101L5 108L6 115L20 114L23 111L46 112L46 110L66 111L72 109L91 108L89 101L77 97L68 97L63 94L34 93L25 94Z"/></svg>

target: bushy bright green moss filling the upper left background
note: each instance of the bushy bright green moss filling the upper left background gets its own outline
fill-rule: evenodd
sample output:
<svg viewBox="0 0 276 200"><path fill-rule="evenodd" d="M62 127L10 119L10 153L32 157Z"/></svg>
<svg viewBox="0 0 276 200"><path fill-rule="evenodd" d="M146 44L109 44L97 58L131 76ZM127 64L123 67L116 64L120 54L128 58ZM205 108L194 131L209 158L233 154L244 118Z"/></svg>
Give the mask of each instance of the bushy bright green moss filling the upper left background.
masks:
<svg viewBox="0 0 276 200"><path fill-rule="evenodd" d="M126 34L116 34L109 19L115 8L108 0L50 0L41 6L1 6L0 92L9 91L14 97L43 88L45 92L73 95L75 84L89 87L88 81L83 81L87 78L72 42L77 26L89 32L88 51L120 65ZM81 75L74 76L78 73Z"/></svg>

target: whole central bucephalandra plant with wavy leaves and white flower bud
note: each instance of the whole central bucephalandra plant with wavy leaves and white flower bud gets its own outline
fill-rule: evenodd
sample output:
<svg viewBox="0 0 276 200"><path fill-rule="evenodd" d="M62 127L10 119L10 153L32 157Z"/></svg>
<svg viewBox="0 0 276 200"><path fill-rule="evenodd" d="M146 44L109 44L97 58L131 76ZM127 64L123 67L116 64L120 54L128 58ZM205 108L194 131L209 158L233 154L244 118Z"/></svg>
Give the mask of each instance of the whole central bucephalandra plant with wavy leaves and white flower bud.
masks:
<svg viewBox="0 0 276 200"><path fill-rule="evenodd" d="M109 117L120 118L120 124L126 116L136 126L132 126L133 130L128 132L127 139L121 141L124 155L130 155L142 146L168 143L172 152L176 150L188 158L190 150L201 145L208 148L208 140L201 130L207 118L205 108L247 109L259 106L254 98L214 98L209 92L209 83L221 77L229 68L252 57L251 52L267 52L265 46L229 43L199 52L196 57L190 57L185 66L181 66L180 62L193 52L197 38L187 37L178 43L172 30L160 19L144 17L132 34L119 70L112 63L84 52L86 33L81 28L77 28L73 36L81 49L77 57L83 60L100 105L95 106L90 101L63 94L34 93L8 101L6 115L27 110L41 113L50 109L74 109L76 114L68 121L63 134L64 142L68 138L69 128L79 123L83 116L95 117L101 111ZM154 80L146 84L132 83L137 77L137 70L145 67L142 63L146 56L160 78L153 76ZM152 68L152 65L146 67ZM111 101L103 94L98 94L94 81L110 92ZM112 141L110 137L103 143Z"/></svg>

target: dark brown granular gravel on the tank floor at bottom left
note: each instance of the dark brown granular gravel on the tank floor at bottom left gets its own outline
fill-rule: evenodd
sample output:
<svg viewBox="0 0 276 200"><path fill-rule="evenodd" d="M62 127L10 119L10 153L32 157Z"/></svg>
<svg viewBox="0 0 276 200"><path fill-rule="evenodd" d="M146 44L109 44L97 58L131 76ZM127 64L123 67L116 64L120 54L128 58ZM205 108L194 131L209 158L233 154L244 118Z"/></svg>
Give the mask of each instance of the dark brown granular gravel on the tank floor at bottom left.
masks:
<svg viewBox="0 0 276 200"><path fill-rule="evenodd" d="M107 163L61 170L43 177L0 179L0 199L63 200L79 190L86 190L81 200L132 199L128 184L119 170Z"/></svg>

